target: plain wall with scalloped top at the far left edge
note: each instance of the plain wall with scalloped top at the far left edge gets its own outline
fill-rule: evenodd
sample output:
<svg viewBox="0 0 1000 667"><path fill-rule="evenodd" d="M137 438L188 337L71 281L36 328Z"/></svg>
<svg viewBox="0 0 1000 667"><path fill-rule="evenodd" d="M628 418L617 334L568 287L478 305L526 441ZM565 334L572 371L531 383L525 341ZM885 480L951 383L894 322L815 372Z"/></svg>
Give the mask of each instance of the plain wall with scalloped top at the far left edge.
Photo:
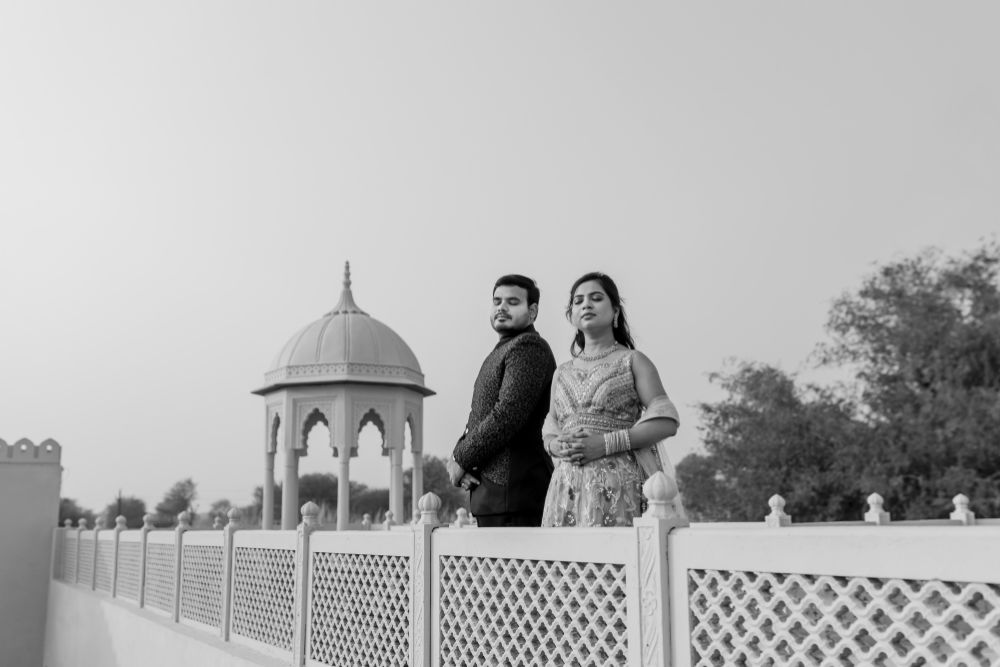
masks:
<svg viewBox="0 0 1000 667"><path fill-rule="evenodd" d="M62 448L0 440L0 665L41 665Z"/></svg>

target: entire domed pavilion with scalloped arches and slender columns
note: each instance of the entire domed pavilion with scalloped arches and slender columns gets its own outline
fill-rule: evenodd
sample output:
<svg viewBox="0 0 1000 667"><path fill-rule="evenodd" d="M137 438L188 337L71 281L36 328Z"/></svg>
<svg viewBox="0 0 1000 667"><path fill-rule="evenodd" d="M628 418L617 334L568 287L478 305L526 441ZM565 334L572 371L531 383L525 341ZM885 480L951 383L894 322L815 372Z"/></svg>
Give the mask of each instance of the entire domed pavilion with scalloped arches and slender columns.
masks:
<svg viewBox="0 0 1000 667"><path fill-rule="evenodd" d="M403 518L403 449L410 427L413 455L413 515L423 494L423 399L433 391L413 350L399 334L354 302L350 263L344 268L340 301L326 315L303 327L281 348L265 385L253 393L265 400L264 507L262 524L274 525L274 455L285 452L281 528L298 522L299 457L308 454L309 431L318 423L330 430L330 447L339 463L337 530L350 517L351 457L358 434L374 424L389 458L389 509ZM284 436L278 442L278 427Z"/></svg>

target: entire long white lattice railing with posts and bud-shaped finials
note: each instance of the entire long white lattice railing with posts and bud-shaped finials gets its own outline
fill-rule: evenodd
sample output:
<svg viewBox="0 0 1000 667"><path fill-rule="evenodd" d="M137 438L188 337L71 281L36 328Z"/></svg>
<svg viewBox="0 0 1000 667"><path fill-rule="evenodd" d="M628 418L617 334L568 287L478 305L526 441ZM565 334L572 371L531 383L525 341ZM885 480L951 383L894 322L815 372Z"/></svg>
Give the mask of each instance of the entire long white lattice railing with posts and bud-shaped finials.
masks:
<svg viewBox="0 0 1000 667"><path fill-rule="evenodd" d="M961 497L933 525L873 496L797 526L775 497L678 528L653 481L632 528L440 529L428 495L381 531L317 530L311 504L296 531L63 528L53 569L296 666L1000 667L1000 525Z"/></svg>

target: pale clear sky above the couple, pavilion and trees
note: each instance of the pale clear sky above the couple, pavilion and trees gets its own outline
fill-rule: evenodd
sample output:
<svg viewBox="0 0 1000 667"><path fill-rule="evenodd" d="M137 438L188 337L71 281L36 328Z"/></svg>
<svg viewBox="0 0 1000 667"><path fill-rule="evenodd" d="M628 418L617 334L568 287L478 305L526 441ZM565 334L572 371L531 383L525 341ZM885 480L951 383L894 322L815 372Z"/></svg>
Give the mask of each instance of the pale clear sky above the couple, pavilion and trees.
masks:
<svg viewBox="0 0 1000 667"><path fill-rule="evenodd" d="M995 238L998 24L988 2L4 3L0 438L57 440L63 496L98 511L185 477L204 508L249 502L250 391L349 260L437 392L435 456L494 280L537 280L561 362L569 286L608 273L680 408L676 461L711 373L808 375L876 265ZM336 472L324 444L302 472ZM352 478L388 485L377 450Z"/></svg>

